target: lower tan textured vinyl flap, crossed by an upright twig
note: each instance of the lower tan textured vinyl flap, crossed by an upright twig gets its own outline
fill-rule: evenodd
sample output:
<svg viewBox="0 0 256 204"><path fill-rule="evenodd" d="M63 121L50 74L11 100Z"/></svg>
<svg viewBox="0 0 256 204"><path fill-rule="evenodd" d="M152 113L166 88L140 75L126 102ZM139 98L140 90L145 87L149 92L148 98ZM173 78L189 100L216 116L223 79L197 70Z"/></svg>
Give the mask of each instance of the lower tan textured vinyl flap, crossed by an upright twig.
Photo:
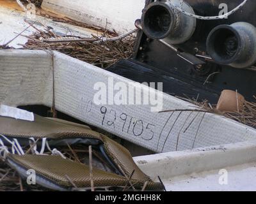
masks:
<svg viewBox="0 0 256 204"><path fill-rule="evenodd" d="M72 183L77 187L91 187L90 168L70 159L63 159L60 156L36 156L26 154L24 156L8 154L7 159L12 160L26 170L33 169L36 175L50 180L61 187L70 188ZM95 187L124 187L127 179L114 173L93 169L93 184ZM68 177L68 178L67 178ZM70 179L70 180L68 180ZM143 187L143 182L131 180L135 187ZM157 187L156 184L153 184ZM148 184L148 189L152 184ZM161 186L158 186L161 189ZM157 188L156 188L157 189Z"/></svg>

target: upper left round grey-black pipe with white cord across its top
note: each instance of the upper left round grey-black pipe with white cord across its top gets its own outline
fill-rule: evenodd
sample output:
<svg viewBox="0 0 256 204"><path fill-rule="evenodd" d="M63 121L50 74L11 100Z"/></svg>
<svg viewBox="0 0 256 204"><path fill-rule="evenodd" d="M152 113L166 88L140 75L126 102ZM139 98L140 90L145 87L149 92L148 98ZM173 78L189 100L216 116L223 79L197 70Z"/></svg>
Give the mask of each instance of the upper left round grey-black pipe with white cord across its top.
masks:
<svg viewBox="0 0 256 204"><path fill-rule="evenodd" d="M179 0L156 1L149 4L141 17L143 32L152 39L168 38L170 44L180 44L189 40L196 27L196 19L175 10L173 4L179 6ZM182 9L195 14L193 8L184 2Z"/></svg>

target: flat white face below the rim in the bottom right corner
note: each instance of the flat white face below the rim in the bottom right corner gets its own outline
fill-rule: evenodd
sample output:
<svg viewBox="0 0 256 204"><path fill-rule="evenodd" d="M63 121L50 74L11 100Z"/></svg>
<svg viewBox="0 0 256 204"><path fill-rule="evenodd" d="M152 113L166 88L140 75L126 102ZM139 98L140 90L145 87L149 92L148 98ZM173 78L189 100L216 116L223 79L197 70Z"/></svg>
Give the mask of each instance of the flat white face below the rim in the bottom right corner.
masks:
<svg viewBox="0 0 256 204"><path fill-rule="evenodd" d="M164 180L166 191L256 191L256 163L225 168L227 182L220 183L220 170L204 171ZM226 180L225 180L226 181Z"/></svg>

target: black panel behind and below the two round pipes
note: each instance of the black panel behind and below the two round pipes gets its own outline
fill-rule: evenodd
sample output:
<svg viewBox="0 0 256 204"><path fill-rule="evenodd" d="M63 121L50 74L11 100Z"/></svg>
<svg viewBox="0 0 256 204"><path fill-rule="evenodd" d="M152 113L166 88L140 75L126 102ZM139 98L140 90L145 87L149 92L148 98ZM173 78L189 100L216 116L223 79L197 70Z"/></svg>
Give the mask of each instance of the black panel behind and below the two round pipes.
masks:
<svg viewBox="0 0 256 204"><path fill-rule="evenodd" d="M203 16L218 15L218 6L221 3L227 3L230 11L242 1L187 0L195 13ZM190 54L207 55L206 39L210 31L217 25L234 22L249 22L256 26L256 1L248 0L241 10L230 15L228 19L197 20L196 31L191 40L177 47ZM195 48L198 52L195 52ZM204 69L198 71L198 68L181 59L163 43L148 39L140 32L132 60L118 62L108 70L137 82L164 82L164 92L178 96L197 98L199 94L201 99L209 99L215 103L218 98L216 94L220 94L223 89L231 89L237 90L246 99L253 100L256 92L256 71L221 66L212 61L206 62Z"/></svg>

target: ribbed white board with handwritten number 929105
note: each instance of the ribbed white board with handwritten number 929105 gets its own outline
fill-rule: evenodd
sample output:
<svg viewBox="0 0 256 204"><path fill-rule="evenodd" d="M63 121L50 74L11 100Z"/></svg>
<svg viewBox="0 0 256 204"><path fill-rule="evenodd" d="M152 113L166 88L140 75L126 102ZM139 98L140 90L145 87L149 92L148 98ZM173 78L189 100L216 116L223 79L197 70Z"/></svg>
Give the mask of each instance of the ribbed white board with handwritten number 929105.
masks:
<svg viewBox="0 0 256 204"><path fill-rule="evenodd" d="M185 150L256 138L255 129L209 113L202 120L204 113L190 117L188 112L156 113L148 105L97 106L93 103L95 83L108 84L109 77L127 85L131 80L58 52L54 52L54 62L58 110L150 150L170 152L176 147ZM0 103L51 106L51 55L35 50L1 50ZM190 103L167 94L163 105L164 110L191 108Z"/></svg>

